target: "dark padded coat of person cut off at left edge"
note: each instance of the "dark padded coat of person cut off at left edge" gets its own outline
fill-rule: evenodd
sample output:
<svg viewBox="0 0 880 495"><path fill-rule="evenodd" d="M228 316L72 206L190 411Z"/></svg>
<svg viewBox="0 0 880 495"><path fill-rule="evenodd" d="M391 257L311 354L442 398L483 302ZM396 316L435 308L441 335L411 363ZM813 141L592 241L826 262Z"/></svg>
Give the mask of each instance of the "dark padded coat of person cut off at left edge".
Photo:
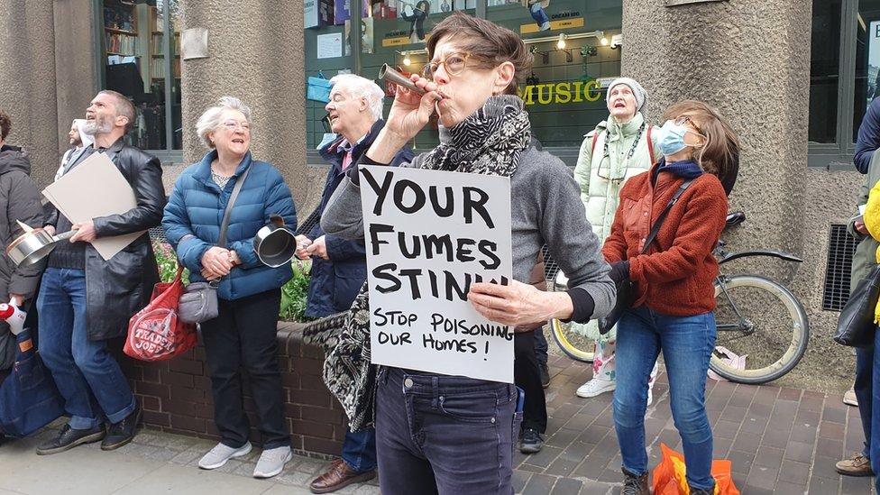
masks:
<svg viewBox="0 0 880 495"><path fill-rule="evenodd" d="M23 234L15 222L40 227L43 221L40 192L31 182L31 161L25 151L14 146L0 148L0 302L9 300L9 294L32 298L40 282L42 264L16 268L5 255L6 246ZM15 337L9 325L0 322L0 370L13 365Z"/></svg>

